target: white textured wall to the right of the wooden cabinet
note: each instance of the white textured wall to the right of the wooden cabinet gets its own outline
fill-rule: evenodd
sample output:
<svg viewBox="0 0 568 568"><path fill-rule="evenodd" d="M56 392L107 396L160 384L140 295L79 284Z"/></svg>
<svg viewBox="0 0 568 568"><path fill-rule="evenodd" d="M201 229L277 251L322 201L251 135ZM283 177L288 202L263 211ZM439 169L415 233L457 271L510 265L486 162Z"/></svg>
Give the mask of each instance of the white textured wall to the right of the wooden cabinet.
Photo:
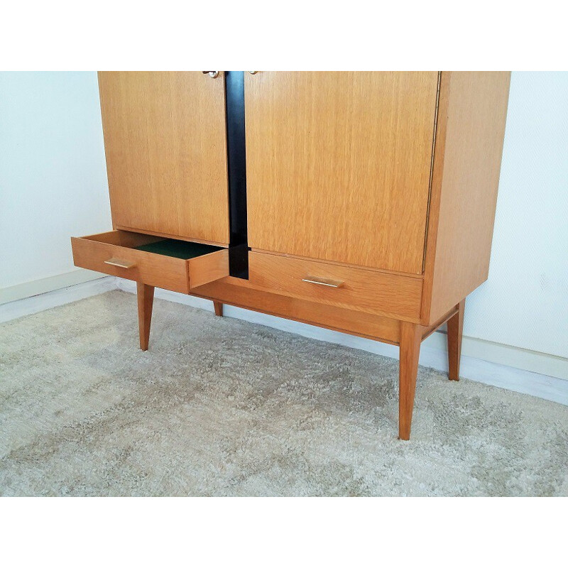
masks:
<svg viewBox="0 0 568 568"><path fill-rule="evenodd" d="M568 72L513 72L489 278L464 334L568 356Z"/></svg>

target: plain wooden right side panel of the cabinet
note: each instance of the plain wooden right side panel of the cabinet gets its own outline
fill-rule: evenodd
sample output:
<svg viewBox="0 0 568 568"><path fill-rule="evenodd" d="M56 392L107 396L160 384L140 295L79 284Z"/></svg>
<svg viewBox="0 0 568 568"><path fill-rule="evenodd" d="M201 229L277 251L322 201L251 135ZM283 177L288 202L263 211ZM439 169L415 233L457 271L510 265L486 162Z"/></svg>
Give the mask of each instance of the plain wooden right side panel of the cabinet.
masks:
<svg viewBox="0 0 568 568"><path fill-rule="evenodd" d="M422 324L487 279L509 72L442 73Z"/></svg>

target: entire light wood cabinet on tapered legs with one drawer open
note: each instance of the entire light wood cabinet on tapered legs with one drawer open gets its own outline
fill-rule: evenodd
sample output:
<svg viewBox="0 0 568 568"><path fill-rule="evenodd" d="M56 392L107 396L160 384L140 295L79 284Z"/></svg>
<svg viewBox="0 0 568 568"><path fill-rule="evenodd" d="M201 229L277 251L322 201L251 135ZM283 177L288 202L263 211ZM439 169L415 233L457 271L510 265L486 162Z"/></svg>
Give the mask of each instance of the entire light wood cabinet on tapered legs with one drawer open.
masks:
<svg viewBox="0 0 568 568"><path fill-rule="evenodd" d="M400 346L409 439L420 343L487 279L508 72L101 72L114 230L75 264Z"/></svg>

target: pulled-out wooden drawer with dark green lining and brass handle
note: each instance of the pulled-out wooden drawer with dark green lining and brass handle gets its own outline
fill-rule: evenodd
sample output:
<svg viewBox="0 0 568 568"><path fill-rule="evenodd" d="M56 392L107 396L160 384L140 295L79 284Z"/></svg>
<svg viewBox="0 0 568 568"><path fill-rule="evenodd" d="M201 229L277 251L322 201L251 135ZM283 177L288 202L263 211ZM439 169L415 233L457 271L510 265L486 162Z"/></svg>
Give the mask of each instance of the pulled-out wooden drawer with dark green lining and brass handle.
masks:
<svg viewBox="0 0 568 568"><path fill-rule="evenodd" d="M229 275L229 251L219 246L130 231L72 237L75 266L190 293Z"/></svg>

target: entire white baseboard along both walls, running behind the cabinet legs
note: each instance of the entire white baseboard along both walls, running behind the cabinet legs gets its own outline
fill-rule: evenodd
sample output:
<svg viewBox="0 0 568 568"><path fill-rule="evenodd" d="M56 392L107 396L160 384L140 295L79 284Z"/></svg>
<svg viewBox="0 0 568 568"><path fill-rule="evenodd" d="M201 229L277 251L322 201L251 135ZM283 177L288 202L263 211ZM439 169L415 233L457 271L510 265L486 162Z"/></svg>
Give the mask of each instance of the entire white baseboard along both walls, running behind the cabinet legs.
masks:
<svg viewBox="0 0 568 568"><path fill-rule="evenodd" d="M136 283L107 276L9 302L0 305L0 322L116 289L135 293ZM199 297L158 288L155 290L155 297L213 311L213 303ZM374 342L371 339L333 332L329 329L229 305L224 306L224 316L398 359L398 347ZM444 332L436 332L425 340L420 349L420 364L447 372L447 342ZM486 342L483 339L464 337L460 376L568 405L568 360L562 357Z"/></svg>

